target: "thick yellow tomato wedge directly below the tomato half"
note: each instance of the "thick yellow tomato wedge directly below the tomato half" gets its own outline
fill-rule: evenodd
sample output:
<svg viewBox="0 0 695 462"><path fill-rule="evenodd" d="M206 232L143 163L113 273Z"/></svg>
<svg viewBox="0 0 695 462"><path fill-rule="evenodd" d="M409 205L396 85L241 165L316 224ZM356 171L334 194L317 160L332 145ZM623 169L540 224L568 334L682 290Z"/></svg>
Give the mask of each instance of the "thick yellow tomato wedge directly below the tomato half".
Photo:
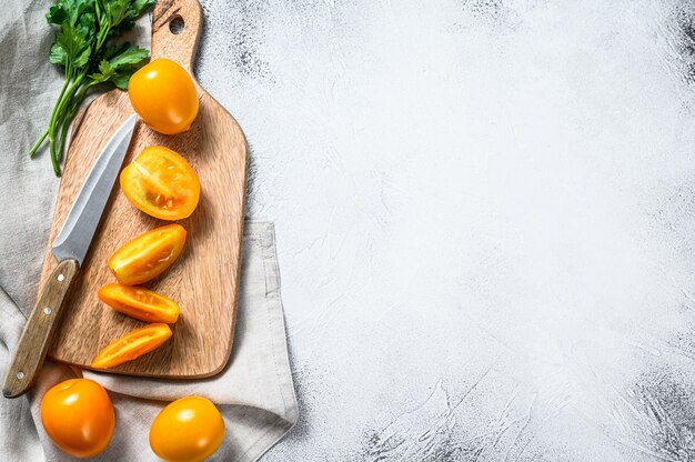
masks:
<svg viewBox="0 0 695 462"><path fill-rule="evenodd" d="M180 224L155 228L128 242L109 259L109 269L124 285L142 284L171 267L185 243Z"/></svg>

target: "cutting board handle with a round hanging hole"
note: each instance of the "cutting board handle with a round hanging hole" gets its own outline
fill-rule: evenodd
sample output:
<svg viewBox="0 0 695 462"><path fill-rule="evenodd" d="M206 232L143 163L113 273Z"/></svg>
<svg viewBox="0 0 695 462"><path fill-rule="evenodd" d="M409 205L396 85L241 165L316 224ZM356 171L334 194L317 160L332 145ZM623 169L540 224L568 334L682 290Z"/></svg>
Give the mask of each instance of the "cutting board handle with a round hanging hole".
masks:
<svg viewBox="0 0 695 462"><path fill-rule="evenodd" d="M193 76L202 26L198 0L159 0L152 12L152 60L169 58Z"/></svg>

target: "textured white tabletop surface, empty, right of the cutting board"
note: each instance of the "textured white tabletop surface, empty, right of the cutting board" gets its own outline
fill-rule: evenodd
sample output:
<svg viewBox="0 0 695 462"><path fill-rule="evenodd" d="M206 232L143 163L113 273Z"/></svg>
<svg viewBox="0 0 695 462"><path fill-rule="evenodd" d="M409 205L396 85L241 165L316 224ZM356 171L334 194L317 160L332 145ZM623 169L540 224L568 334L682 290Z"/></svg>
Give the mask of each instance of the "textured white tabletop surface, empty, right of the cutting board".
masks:
<svg viewBox="0 0 695 462"><path fill-rule="evenodd" d="M695 460L692 2L202 3L278 231L266 460Z"/></svg>

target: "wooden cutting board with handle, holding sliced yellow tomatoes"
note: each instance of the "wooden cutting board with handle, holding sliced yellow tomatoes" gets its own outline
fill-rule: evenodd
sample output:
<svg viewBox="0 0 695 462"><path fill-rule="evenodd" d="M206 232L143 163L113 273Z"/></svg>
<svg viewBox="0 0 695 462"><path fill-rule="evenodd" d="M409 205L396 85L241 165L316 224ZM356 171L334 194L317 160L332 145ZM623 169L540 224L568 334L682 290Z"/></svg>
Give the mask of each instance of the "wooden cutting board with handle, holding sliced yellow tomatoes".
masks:
<svg viewBox="0 0 695 462"><path fill-rule="evenodd" d="M174 27L170 27L172 21ZM183 29L175 29L181 21ZM159 0L152 14L152 59L169 58L192 76L201 24L198 0ZM202 378L221 371L230 356L244 218L246 140L229 112L200 86L198 90L200 112L188 132L163 135L138 121L125 155L123 165L150 145L165 145L181 153L198 172L201 200L190 218L179 221L188 231L185 250L179 261L144 284L181 305L180 319L172 325L173 337L160 349L113 368L114 373ZM128 93L112 90L94 100L75 119L41 285L57 265L50 243L61 229L87 172L111 134L132 113ZM135 209L117 181L74 290L66 302L50 356L89 369L99 350L144 325L99 301L97 291L103 284L115 282L107 267L113 251L167 223Z"/></svg>

